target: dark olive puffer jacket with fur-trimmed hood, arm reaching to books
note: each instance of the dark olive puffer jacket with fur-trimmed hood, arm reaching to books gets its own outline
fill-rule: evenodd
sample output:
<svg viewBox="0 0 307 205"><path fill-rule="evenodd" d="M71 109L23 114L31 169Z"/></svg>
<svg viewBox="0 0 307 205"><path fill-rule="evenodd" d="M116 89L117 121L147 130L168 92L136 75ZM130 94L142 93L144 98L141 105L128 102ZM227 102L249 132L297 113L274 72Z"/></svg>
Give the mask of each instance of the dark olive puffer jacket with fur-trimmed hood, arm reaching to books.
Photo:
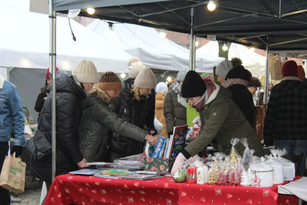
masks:
<svg viewBox="0 0 307 205"><path fill-rule="evenodd" d="M80 151L87 162L99 161L107 141L106 129L118 135L145 142L149 132L118 117L111 111L110 97L99 88L93 88L83 102L83 115L79 126Z"/></svg>

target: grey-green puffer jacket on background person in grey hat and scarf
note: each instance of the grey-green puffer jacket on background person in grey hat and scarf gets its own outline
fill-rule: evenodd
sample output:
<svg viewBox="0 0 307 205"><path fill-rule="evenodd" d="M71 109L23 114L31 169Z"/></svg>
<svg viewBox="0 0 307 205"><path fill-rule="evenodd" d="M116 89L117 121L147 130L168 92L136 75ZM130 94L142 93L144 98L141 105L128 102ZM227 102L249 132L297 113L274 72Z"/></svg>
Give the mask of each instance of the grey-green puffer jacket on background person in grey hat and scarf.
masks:
<svg viewBox="0 0 307 205"><path fill-rule="evenodd" d="M173 133L173 127L187 124L187 108L178 102L177 94L173 89L166 93L164 100L164 116L168 133Z"/></svg>

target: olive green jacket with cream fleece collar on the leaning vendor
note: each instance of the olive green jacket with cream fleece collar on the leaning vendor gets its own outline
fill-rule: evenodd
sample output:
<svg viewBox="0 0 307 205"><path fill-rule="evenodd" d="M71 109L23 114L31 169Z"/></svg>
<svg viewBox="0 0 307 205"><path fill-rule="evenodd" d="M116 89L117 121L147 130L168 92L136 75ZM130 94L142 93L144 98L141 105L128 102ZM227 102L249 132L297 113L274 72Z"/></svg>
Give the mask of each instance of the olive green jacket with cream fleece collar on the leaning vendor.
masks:
<svg viewBox="0 0 307 205"><path fill-rule="evenodd" d="M182 151L182 154L186 158L195 156L216 139L219 152L229 155L232 147L231 138L247 138L248 147L255 149L254 155L263 156L262 144L242 111L231 100L231 92L223 86L215 85L216 90L212 92L200 112L201 133ZM240 155L245 149L240 142L235 148Z"/></svg>

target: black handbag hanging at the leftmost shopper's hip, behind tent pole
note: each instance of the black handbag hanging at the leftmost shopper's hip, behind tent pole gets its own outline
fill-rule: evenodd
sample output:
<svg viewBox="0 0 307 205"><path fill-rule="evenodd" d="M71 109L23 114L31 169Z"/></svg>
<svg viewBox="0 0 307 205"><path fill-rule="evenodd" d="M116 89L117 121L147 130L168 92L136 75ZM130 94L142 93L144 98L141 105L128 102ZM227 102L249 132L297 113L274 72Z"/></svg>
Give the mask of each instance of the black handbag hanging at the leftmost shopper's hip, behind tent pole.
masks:
<svg viewBox="0 0 307 205"><path fill-rule="evenodd" d="M27 142L26 148L31 160L41 160L51 153L51 143L45 137L44 133L40 131L43 112L41 112L40 119L37 125L35 135Z"/></svg>

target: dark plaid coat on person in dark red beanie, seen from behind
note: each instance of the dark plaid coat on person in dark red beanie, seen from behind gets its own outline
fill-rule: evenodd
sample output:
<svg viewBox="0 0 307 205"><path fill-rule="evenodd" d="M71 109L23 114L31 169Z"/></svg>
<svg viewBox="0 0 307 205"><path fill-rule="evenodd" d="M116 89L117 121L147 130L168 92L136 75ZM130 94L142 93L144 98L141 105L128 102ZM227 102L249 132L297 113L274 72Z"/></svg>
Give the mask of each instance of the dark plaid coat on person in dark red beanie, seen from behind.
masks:
<svg viewBox="0 0 307 205"><path fill-rule="evenodd" d="M266 145L274 140L307 140L307 87L298 77L285 77L272 88L264 118Z"/></svg>

